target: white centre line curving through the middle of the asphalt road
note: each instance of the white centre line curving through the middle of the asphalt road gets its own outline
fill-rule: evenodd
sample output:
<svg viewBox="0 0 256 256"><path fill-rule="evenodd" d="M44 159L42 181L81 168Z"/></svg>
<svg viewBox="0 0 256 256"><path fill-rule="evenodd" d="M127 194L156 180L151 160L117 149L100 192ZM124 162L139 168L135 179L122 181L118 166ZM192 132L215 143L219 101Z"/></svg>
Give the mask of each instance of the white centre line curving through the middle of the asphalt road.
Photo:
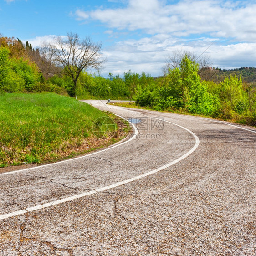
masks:
<svg viewBox="0 0 256 256"><path fill-rule="evenodd" d="M158 118L156 118L156 119L158 119ZM159 120L163 120L163 119L159 119ZM171 123L171 122L165 121L165 120L164 120L164 122ZM161 166L161 167L159 167L157 169L154 169L154 170L152 170L150 172L147 172L145 174L141 174L141 175L135 176L135 177L133 177L131 179L126 179L126 180L120 181L118 183L114 183L112 185L109 185L109 186L105 186L105 187L102 187L102 188L99 188L99 189L95 189L95 190L92 190L92 191L89 191L89 192L85 192L85 193L82 193L82 194L73 195L73 196L70 196L70 197L67 197L67 198L63 198L63 199L60 199L60 200L55 200L55 201L52 201L52 202L49 202L49 203L46 203L46 204L43 204L43 205L36 205L36 206L33 206L33 207L28 207L28 208L23 209L23 210L19 210L19 211L15 211L15 212L10 212L8 214L0 215L0 220L7 219L7 218L10 218L10 217L13 217L13 216L16 216L16 215L25 214L27 212L31 212L31 211L34 211L34 210L40 210L40 209L47 208L47 207L50 207L50 206L53 206L53 205L62 204L62 203L68 202L68 201L75 200L77 198L81 198L81 197L84 197L84 196L87 196L87 195L92 195L92 194L95 194L95 193L98 193L98 192L102 192L102 191L105 191L105 190L108 190L108 189L113 189L113 188L116 188L118 186L122 186L124 184L133 182L135 180L142 179L142 178L147 177L147 176L149 176L151 174L155 174L155 173L157 173L157 172L159 172L161 170L164 170L164 169L170 167L171 165L174 165L174 164L178 163L179 161L181 161L182 159L186 158L191 153L193 153L195 151L195 149L199 146L200 141L199 141L199 138L195 135L195 133L193 133L189 129L184 128L183 126L180 126L180 125L178 125L176 123L171 123L171 124L174 124L174 125L176 125L176 126L178 126L180 128L183 128L184 130L186 130L189 133L191 133L194 136L194 138L195 138L195 145L194 145L194 147L191 148L186 154L182 155L178 159L170 162L169 164L165 164L164 166ZM137 133L138 133L138 130L137 130ZM135 138L135 136L137 136L137 135L134 134L133 138ZM133 139L133 138L131 138L131 139ZM129 141L131 139L129 139ZM125 143L127 143L127 142L128 141L126 141Z"/></svg>

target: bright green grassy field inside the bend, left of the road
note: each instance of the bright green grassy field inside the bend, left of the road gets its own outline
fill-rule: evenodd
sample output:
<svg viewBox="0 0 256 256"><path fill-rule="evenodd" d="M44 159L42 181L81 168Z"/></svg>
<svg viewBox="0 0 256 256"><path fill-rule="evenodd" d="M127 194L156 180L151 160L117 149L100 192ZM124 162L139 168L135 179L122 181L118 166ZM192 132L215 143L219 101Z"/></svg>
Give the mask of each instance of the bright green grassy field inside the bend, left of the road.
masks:
<svg viewBox="0 0 256 256"><path fill-rule="evenodd" d="M87 153L117 142L129 129L121 118L70 97L54 93L2 94L0 167Z"/></svg>

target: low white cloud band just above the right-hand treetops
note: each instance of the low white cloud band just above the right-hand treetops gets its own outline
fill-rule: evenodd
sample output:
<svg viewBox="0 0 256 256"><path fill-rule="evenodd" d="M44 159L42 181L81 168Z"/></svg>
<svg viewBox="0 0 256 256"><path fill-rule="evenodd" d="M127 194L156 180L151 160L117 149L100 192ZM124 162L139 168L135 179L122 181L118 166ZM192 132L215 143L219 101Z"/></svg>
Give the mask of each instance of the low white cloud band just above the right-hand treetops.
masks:
<svg viewBox="0 0 256 256"><path fill-rule="evenodd" d="M158 35L140 40L120 41L104 49L103 54L107 57L108 62L105 64L102 75L108 76L109 72L114 75L118 73L123 75L123 72L131 69L134 72L141 73L144 71L152 76L159 76L166 57L180 49L194 52L197 56L205 51L205 54L210 56L213 67L226 69L243 66L254 67L255 48L256 43L237 43L222 46L218 39L198 38L195 41L180 41L165 36L164 40L159 40Z"/></svg>

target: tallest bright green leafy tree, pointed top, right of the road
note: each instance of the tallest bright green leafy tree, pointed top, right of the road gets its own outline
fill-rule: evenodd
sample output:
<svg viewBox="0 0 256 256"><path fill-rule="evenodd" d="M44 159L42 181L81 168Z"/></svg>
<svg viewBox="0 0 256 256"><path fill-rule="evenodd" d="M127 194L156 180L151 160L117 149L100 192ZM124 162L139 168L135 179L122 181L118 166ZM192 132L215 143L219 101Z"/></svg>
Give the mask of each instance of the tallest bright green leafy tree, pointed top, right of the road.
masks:
<svg viewBox="0 0 256 256"><path fill-rule="evenodd" d="M138 103L141 104L141 100ZM189 113L211 115L218 109L219 101L201 82L198 64L185 56L180 68L169 72L152 105L155 109L183 109Z"/></svg>

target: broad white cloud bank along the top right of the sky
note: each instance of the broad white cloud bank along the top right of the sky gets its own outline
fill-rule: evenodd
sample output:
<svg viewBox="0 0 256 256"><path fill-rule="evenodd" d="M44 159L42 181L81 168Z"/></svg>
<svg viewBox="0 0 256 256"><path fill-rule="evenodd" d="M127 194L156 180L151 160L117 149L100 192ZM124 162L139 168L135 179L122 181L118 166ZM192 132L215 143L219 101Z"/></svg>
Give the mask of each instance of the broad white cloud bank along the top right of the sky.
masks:
<svg viewBox="0 0 256 256"><path fill-rule="evenodd" d="M162 0L129 0L125 8L77 10L79 20L98 20L109 28L174 36L210 34L236 40L256 40L250 28L256 26L256 4L251 1L182 0L165 4Z"/></svg>

